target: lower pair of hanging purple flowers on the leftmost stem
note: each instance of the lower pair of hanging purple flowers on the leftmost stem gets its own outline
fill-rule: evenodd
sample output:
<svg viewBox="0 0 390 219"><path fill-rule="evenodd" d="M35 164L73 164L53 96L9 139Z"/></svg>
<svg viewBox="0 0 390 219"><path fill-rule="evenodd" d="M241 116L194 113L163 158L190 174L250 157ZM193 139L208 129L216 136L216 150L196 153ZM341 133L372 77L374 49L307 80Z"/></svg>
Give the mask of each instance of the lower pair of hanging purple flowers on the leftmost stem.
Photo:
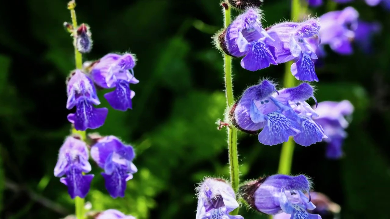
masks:
<svg viewBox="0 0 390 219"><path fill-rule="evenodd" d="M106 189L113 198L124 197L126 181L133 178L133 173L137 172L131 162L135 157L133 147L124 145L114 136L102 137L96 141L91 148L91 157L105 171L102 175ZM67 137L60 148L54 175L62 177L60 182L67 185L72 199L76 196L84 198L89 191L94 175L83 175L92 169L88 159L87 144L79 137ZM64 175L66 177L63 177Z"/></svg>

